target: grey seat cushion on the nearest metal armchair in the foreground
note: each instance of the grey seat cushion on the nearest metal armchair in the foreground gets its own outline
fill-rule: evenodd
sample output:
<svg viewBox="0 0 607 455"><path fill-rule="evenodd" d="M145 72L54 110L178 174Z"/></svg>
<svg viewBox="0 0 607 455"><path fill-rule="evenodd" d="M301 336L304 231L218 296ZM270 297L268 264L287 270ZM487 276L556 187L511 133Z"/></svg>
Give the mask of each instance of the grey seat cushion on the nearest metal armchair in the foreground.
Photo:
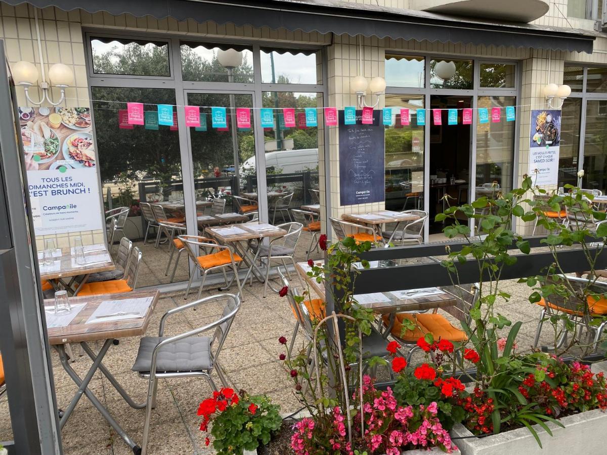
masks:
<svg viewBox="0 0 607 455"><path fill-rule="evenodd" d="M149 372L152 368L152 352L167 337L143 337L133 371ZM163 346L156 356L156 372L200 371L211 368L211 339L189 337Z"/></svg>

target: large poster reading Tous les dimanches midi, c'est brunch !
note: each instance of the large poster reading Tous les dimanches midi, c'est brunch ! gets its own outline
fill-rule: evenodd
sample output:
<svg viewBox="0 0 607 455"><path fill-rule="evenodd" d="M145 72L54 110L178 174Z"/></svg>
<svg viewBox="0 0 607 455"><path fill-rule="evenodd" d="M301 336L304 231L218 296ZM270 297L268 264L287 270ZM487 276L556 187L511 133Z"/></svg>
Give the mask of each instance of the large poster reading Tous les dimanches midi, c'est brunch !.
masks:
<svg viewBox="0 0 607 455"><path fill-rule="evenodd" d="M103 229L89 107L19 107L36 235Z"/></svg>

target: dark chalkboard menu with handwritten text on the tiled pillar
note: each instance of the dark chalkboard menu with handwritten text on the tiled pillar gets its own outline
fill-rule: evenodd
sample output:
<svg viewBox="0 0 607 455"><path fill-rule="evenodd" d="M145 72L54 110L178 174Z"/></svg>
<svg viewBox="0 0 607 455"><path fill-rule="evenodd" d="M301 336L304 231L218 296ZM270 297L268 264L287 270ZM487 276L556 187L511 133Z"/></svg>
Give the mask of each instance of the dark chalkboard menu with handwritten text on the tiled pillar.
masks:
<svg viewBox="0 0 607 455"><path fill-rule="evenodd" d="M339 111L339 203L342 206L385 200L384 125L382 111L373 111L373 124L344 124Z"/></svg>

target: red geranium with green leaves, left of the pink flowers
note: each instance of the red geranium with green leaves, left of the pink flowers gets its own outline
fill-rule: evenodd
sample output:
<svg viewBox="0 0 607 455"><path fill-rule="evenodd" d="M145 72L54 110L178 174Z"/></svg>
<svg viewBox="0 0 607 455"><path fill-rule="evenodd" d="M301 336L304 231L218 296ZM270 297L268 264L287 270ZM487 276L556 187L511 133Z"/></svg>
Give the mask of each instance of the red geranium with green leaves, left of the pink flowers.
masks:
<svg viewBox="0 0 607 455"><path fill-rule="evenodd" d="M263 396L249 396L244 391L237 394L233 389L222 388L198 407L203 416L200 430L213 436L213 448L218 455L240 454L244 450L256 450L260 444L270 442L272 433L282 425L279 406ZM211 439L206 437L206 445Z"/></svg>

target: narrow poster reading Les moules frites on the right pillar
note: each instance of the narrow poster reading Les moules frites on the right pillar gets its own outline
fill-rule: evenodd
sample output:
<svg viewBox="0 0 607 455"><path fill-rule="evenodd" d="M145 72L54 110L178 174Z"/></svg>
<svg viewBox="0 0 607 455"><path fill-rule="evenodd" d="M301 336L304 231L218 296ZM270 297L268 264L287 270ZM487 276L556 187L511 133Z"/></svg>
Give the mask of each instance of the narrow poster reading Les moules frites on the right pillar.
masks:
<svg viewBox="0 0 607 455"><path fill-rule="evenodd" d="M529 133L529 171L535 185L558 183L558 154L561 141L561 111L538 109L531 111Z"/></svg>

